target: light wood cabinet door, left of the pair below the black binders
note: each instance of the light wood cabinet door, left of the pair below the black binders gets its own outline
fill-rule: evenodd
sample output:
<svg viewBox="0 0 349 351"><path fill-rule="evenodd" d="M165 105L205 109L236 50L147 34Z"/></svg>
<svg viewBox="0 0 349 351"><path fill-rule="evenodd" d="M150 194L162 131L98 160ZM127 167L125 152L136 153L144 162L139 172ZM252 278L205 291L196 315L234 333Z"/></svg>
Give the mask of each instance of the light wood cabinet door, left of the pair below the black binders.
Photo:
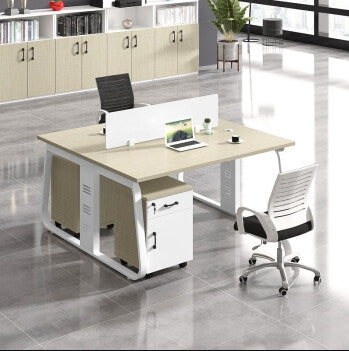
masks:
<svg viewBox="0 0 349 351"><path fill-rule="evenodd" d="M81 90L81 38L56 39L56 93Z"/></svg>

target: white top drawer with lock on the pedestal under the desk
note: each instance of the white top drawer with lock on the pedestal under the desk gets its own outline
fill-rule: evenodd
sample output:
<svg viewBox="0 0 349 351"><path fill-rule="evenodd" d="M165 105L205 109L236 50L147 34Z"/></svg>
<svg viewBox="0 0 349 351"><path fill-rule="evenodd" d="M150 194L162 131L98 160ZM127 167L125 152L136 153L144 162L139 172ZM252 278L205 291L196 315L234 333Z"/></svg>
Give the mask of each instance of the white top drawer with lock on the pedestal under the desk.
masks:
<svg viewBox="0 0 349 351"><path fill-rule="evenodd" d="M186 191L166 196L153 201L147 201L147 219L165 216L174 212L193 207L193 192Z"/></svg>

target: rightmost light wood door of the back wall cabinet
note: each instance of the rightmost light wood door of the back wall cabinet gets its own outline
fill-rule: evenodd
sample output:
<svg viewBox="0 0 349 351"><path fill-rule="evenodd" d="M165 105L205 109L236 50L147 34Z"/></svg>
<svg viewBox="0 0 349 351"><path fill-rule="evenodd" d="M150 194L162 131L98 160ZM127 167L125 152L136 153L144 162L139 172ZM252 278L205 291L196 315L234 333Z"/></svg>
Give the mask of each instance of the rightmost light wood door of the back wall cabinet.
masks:
<svg viewBox="0 0 349 351"><path fill-rule="evenodd" d="M178 74L199 71L199 25L178 26Z"/></svg>

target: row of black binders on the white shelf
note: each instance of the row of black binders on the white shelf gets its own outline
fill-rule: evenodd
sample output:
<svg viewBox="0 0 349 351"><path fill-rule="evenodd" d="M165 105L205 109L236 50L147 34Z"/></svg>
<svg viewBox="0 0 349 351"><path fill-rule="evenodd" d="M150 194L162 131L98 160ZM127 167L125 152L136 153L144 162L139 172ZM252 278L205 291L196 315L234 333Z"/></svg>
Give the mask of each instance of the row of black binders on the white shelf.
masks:
<svg viewBox="0 0 349 351"><path fill-rule="evenodd" d="M57 35L69 37L76 35L102 33L102 14L93 12L58 17Z"/></svg>

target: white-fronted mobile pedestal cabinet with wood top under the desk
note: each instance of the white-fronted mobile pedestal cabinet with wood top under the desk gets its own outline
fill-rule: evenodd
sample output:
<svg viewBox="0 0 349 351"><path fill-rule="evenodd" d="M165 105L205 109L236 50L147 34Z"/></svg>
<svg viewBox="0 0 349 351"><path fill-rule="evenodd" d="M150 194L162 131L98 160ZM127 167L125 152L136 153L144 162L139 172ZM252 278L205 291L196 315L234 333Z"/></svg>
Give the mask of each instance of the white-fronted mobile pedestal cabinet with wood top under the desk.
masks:
<svg viewBox="0 0 349 351"><path fill-rule="evenodd" d="M115 256L138 268L133 198L129 188L117 188ZM171 177L140 183L147 251L147 273L193 259L193 188Z"/></svg>

